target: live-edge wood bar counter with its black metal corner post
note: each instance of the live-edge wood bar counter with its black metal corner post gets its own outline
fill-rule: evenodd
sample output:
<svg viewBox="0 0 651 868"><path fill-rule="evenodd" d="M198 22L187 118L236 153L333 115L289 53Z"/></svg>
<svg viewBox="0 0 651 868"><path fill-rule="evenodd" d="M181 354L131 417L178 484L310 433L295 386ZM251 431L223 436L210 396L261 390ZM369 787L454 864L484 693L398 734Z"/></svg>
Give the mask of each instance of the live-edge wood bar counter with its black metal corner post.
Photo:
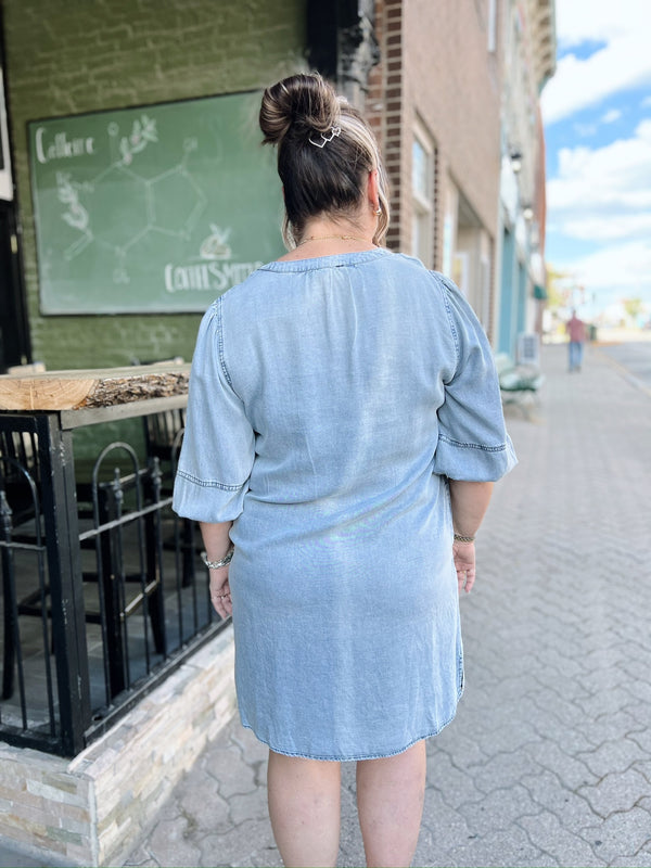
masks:
<svg viewBox="0 0 651 868"><path fill-rule="evenodd" d="M60 719L75 753L90 720L85 647L79 527L76 502L75 429L182 409L189 363L156 363L101 370L0 375L0 431L36 434L40 506L48 540L52 633Z"/></svg>

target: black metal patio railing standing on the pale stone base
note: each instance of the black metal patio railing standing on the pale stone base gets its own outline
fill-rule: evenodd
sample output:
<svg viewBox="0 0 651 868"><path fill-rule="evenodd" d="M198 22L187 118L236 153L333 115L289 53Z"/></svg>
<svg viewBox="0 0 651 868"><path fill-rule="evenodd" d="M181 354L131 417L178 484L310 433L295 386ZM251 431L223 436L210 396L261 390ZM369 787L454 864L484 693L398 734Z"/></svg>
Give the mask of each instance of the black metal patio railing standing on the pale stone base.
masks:
<svg viewBox="0 0 651 868"><path fill-rule="evenodd" d="M199 529L170 507L182 430L167 449L145 437L144 455L142 444L111 443L85 480L71 418L0 413L0 740L63 755L226 624L210 605Z"/></svg>

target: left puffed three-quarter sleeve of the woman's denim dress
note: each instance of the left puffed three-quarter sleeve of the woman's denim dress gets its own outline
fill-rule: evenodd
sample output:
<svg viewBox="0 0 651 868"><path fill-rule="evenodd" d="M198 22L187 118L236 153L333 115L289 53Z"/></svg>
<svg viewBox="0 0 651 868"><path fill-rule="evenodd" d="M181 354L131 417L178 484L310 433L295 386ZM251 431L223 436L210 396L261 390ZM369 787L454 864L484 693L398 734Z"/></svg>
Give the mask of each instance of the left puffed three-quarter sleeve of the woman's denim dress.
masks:
<svg viewBox="0 0 651 868"><path fill-rule="evenodd" d="M199 330L173 499L179 515L210 523L242 512L255 455L255 434L230 384L222 337L219 298Z"/></svg>

